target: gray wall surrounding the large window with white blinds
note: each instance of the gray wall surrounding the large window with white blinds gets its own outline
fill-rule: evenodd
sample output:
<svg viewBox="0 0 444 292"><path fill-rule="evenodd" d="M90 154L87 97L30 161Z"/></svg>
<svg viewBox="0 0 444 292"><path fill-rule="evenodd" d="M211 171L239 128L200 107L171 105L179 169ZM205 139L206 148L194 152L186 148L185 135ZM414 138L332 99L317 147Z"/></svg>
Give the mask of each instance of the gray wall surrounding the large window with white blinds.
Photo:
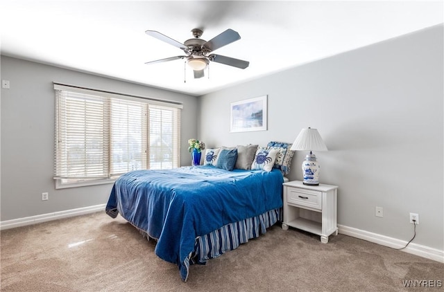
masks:
<svg viewBox="0 0 444 292"><path fill-rule="evenodd" d="M6 56L1 79L10 80L10 89L1 89L1 221L108 201L111 184L55 189L54 81L182 102L181 163L190 164L187 140L197 136L194 96ZM42 192L49 192L48 201L42 201Z"/></svg>

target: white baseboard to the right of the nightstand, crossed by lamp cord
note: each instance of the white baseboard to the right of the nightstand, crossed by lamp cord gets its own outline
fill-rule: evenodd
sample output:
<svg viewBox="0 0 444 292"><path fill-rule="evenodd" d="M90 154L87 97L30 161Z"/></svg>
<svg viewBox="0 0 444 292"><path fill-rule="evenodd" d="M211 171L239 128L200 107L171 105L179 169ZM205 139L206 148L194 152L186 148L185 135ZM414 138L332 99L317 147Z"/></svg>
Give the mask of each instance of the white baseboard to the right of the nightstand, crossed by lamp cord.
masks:
<svg viewBox="0 0 444 292"><path fill-rule="evenodd" d="M348 226L338 225L338 228L339 233L343 235L349 235L351 237L364 239L366 241L380 244L382 246L388 246L391 248L402 248L408 242ZM402 251L404 251L405 253L411 253L412 255L425 257L427 259L433 259L436 262L444 263L444 250L438 250L436 248L430 248L429 246L422 246L420 244L410 243L407 248L402 249Z"/></svg>

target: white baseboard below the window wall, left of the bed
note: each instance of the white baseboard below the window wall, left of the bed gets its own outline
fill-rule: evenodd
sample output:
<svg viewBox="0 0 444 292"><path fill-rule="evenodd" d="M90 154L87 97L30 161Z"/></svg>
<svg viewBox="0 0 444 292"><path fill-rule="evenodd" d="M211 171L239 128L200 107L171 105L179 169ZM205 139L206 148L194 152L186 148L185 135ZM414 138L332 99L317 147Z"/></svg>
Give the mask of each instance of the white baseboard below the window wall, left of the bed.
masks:
<svg viewBox="0 0 444 292"><path fill-rule="evenodd" d="M60 212L53 212L48 214L42 214L42 215L35 215L31 217L24 217L19 219L12 219L12 220L6 220L6 221L0 221L0 230L6 230L10 228L20 227L20 226L27 226L37 223L42 223L46 221L52 221L62 218L68 218L68 217L74 217L79 215L86 215L94 212L100 212L105 211L106 204L96 205L96 206L89 206L85 208L78 208L78 209L71 209L71 210L65 210Z"/></svg>

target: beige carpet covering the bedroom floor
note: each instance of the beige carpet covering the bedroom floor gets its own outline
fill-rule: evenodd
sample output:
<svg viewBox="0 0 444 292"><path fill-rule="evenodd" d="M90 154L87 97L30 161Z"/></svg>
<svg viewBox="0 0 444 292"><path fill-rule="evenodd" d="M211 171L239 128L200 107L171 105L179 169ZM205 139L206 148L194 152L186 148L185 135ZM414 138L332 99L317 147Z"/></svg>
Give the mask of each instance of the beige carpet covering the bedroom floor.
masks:
<svg viewBox="0 0 444 292"><path fill-rule="evenodd" d="M403 280L444 282L444 264L345 235L321 244L279 225L191 266L186 283L154 247L105 212L4 230L1 291L408 291Z"/></svg>

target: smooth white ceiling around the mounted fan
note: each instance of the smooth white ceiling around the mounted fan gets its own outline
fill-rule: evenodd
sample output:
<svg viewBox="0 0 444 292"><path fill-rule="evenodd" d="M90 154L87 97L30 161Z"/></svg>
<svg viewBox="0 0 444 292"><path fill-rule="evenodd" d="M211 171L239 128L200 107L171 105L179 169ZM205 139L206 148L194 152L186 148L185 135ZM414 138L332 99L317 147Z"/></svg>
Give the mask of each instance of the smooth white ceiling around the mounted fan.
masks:
<svg viewBox="0 0 444 292"><path fill-rule="evenodd" d="M0 0L1 54L203 95L273 72L443 23L443 1L22 1ZM145 34L185 42L203 28L241 39L216 54L247 69L212 62L194 79L183 55ZM185 72L187 74L186 82ZM209 77L209 78L208 78Z"/></svg>

